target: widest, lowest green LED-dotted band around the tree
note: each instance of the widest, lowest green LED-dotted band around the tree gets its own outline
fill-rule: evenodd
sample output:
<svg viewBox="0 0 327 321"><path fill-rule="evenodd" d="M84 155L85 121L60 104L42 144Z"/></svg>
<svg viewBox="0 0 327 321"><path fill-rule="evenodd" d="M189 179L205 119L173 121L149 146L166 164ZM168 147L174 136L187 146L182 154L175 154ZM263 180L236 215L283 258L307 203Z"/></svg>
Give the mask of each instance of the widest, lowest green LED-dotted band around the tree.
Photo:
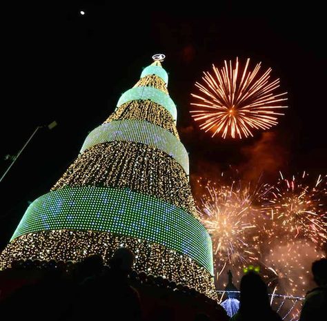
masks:
<svg viewBox="0 0 327 321"><path fill-rule="evenodd" d="M118 188L61 188L30 204L12 240L65 228L140 237L184 253L213 273L206 228L186 211L155 197Z"/></svg>

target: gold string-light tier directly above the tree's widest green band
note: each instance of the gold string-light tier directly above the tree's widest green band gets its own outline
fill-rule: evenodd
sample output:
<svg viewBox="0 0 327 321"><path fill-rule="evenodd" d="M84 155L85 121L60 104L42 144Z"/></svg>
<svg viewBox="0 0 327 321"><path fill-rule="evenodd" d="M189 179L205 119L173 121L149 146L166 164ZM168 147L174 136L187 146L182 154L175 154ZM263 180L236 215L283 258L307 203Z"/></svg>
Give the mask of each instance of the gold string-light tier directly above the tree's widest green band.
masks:
<svg viewBox="0 0 327 321"><path fill-rule="evenodd" d="M188 177L166 153L135 142L93 146L70 165L52 187L108 186L130 188L182 207L198 218Z"/></svg>

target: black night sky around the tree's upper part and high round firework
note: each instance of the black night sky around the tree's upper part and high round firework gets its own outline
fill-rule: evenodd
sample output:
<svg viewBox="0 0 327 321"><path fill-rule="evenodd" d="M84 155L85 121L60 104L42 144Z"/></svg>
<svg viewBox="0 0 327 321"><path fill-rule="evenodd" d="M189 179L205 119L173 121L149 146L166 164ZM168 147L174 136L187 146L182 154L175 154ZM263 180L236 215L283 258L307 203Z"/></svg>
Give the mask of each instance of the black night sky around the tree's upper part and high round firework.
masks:
<svg viewBox="0 0 327 321"><path fill-rule="evenodd" d="M1 188L0 248L28 202L47 193L79 153L88 132L115 109L153 54L166 55L177 127L190 152L192 182L239 169L244 179L273 181L284 173L326 173L326 52L322 8L307 3L198 2L188 11L152 3L147 9L109 1L43 1L3 10L1 173L38 125ZM157 9L155 7L158 7ZM80 10L86 14L81 16ZM286 115L251 139L211 138L190 117L190 93L211 64L239 57L273 68L288 91Z"/></svg>

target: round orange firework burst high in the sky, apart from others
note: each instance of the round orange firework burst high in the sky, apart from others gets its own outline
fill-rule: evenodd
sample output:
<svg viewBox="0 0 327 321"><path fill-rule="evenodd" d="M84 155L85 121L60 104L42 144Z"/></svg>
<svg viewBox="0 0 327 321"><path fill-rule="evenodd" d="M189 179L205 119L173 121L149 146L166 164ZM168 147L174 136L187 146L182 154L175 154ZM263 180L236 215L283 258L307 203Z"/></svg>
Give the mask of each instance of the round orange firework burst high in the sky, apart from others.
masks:
<svg viewBox="0 0 327 321"><path fill-rule="evenodd" d="M270 81L271 68L261 73L261 63L251 71L247 59L243 72L239 67L238 58L233 67L232 61L225 60L219 70L212 64L212 75L204 72L202 84L195 83L201 95L191 94L198 99L191 103L199 109L191 110L192 117L201 121L200 128L212 131L212 137L220 133L221 137L253 136L253 129L266 130L277 124L277 113L281 101L287 100L287 93L276 95L279 79Z"/></svg>

